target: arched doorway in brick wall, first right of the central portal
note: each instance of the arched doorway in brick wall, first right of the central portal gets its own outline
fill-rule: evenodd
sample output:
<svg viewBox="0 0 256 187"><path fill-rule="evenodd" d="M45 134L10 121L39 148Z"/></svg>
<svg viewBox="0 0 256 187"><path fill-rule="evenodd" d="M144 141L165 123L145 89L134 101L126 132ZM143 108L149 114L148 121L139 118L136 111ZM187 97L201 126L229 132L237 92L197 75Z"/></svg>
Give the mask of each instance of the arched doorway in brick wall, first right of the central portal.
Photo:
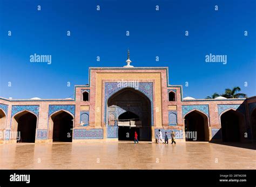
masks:
<svg viewBox="0 0 256 187"><path fill-rule="evenodd" d="M209 141L208 118L194 110L185 116L186 141Z"/></svg>

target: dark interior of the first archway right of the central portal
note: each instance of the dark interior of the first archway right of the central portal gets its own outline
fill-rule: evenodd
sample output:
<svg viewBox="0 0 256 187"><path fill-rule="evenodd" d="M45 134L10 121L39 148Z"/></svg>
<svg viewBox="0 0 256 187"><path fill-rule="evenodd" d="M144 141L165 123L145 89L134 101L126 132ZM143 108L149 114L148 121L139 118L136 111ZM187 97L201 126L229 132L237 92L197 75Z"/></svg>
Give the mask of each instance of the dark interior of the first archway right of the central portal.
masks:
<svg viewBox="0 0 256 187"><path fill-rule="evenodd" d="M185 132L189 132L187 135L197 132L196 140L190 135L186 137L186 141L205 141L205 124L203 116L196 111L188 113L185 116Z"/></svg>

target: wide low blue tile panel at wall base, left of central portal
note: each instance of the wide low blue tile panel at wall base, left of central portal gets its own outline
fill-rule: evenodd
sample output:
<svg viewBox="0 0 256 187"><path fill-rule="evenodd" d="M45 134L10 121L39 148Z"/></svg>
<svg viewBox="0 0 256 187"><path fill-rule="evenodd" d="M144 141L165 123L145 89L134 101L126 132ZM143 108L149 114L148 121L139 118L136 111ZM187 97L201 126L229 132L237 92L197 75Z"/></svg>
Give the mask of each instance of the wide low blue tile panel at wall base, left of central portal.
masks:
<svg viewBox="0 0 256 187"><path fill-rule="evenodd" d="M74 129L73 139L103 139L103 129Z"/></svg>

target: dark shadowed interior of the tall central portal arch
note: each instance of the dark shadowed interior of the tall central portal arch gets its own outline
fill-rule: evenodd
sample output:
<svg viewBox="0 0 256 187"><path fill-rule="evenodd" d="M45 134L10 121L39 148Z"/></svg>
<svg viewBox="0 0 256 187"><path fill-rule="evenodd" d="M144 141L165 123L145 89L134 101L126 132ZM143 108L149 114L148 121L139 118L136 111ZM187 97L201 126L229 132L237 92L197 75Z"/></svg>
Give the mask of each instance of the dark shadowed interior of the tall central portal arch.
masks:
<svg viewBox="0 0 256 187"><path fill-rule="evenodd" d="M107 106L118 106L125 111L129 111L129 107L133 107L133 109L136 109L136 111L139 111L139 120L142 121L142 127L140 128L131 128L131 134L134 138L134 131L137 131L138 137L140 141L152 141L152 135L151 135L151 103L150 99L147 98L142 92L135 90L133 88L125 88L123 90L118 91L113 96L109 98L107 101ZM125 116L128 115L128 116ZM133 118L133 114L124 113L124 118ZM122 117L122 116L121 116ZM120 127L118 130L118 139L122 140L122 137L125 137L125 132L127 131L127 128L130 129L130 127ZM133 140L133 138L131 138ZM127 140L127 139L126 139Z"/></svg>

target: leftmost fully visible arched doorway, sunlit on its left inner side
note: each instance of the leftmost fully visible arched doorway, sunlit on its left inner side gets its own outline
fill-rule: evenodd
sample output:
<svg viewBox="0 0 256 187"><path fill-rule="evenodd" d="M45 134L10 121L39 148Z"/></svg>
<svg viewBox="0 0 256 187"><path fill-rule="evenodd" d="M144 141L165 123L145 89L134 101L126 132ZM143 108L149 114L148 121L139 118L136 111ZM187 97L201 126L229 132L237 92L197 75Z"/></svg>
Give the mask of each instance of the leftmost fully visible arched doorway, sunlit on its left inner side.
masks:
<svg viewBox="0 0 256 187"><path fill-rule="evenodd" d="M12 118L12 131L17 131L21 135L21 140L17 142L35 143L37 116L29 111L17 113Z"/></svg>

